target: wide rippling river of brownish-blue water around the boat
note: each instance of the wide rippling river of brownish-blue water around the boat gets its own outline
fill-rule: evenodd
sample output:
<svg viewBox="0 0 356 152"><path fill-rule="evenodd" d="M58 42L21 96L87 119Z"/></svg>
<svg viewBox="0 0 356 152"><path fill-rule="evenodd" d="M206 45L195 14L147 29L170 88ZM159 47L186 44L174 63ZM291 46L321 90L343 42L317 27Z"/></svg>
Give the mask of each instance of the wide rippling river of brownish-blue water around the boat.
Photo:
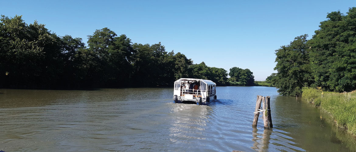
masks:
<svg viewBox="0 0 356 152"><path fill-rule="evenodd" d="M217 87L209 106L174 104L172 88L0 89L0 150L356 151L330 116L273 87ZM271 96L273 129L256 96Z"/></svg>

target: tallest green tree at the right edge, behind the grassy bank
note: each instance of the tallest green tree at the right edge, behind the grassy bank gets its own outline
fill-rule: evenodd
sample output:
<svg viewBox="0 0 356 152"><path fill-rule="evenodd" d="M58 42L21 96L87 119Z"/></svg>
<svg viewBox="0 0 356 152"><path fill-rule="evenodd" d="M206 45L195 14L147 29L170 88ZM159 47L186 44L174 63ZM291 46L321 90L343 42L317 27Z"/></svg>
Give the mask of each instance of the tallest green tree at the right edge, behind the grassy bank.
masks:
<svg viewBox="0 0 356 152"><path fill-rule="evenodd" d="M320 22L310 45L310 62L315 85L329 91L356 89L356 7L340 11Z"/></svg>

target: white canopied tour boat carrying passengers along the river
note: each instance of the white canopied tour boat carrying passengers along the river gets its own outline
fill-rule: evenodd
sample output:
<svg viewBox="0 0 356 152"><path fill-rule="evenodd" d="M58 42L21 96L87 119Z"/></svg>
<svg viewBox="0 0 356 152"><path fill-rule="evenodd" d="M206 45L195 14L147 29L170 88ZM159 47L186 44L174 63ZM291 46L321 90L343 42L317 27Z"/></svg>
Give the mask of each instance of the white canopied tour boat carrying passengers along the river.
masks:
<svg viewBox="0 0 356 152"><path fill-rule="evenodd" d="M216 99L215 89L211 80L180 78L174 82L173 102L208 105Z"/></svg>

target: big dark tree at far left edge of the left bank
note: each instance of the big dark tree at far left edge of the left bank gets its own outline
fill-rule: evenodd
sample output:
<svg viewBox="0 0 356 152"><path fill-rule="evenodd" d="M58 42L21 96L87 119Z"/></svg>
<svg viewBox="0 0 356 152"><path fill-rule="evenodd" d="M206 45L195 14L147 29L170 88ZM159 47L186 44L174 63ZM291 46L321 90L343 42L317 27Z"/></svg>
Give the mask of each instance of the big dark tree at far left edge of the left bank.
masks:
<svg viewBox="0 0 356 152"><path fill-rule="evenodd" d="M60 38L37 21L27 25L22 16L0 19L0 74L2 85L15 88L52 88L63 71Z"/></svg>

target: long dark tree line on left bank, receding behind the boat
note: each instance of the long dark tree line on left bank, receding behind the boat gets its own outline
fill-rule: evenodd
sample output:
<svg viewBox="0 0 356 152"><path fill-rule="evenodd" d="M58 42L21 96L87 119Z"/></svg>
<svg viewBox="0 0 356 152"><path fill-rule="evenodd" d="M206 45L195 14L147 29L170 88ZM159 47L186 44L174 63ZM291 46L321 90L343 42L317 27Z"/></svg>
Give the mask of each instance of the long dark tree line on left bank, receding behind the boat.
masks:
<svg viewBox="0 0 356 152"><path fill-rule="evenodd" d="M22 16L0 19L0 87L101 88L171 87L179 78L209 79L217 85L253 85L253 73L237 67L193 64L182 53L157 44L132 43L109 28L82 38L58 36ZM246 80L245 80L246 79Z"/></svg>

